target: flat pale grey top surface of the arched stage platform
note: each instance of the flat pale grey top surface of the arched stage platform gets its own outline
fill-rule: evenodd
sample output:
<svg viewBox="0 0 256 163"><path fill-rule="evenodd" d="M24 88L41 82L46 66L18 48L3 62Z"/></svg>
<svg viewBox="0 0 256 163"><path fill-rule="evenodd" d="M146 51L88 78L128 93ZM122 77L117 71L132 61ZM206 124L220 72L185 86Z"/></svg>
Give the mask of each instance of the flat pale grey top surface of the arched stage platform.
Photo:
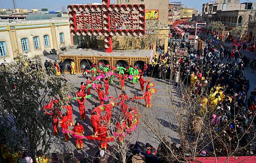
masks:
<svg viewBox="0 0 256 163"><path fill-rule="evenodd" d="M114 56L114 57L150 57L152 50L131 49L131 50L113 50L112 53L106 53L99 49L68 49L60 55L89 55L89 56Z"/></svg>

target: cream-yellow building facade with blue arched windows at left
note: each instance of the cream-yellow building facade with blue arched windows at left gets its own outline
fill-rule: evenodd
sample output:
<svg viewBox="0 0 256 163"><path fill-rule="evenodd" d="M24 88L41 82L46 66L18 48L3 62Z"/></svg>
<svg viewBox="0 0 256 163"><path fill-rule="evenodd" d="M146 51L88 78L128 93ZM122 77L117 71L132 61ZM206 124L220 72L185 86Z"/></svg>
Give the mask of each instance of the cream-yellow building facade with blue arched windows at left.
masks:
<svg viewBox="0 0 256 163"><path fill-rule="evenodd" d="M18 53L47 54L72 42L67 19L0 22L0 62L11 62Z"/></svg>

